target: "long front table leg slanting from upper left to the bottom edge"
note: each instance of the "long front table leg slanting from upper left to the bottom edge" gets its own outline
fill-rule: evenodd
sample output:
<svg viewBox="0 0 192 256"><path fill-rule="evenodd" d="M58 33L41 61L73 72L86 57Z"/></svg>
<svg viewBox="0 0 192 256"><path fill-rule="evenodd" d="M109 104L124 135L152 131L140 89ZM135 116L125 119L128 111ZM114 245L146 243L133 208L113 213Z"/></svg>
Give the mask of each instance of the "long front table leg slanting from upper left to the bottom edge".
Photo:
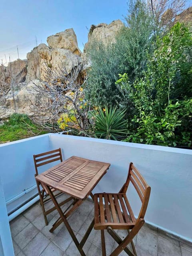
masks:
<svg viewBox="0 0 192 256"><path fill-rule="evenodd" d="M83 251L83 249L82 249L82 247L80 246L80 243L78 242L78 240L77 240L77 238L76 238L76 236L75 236L75 234L74 234L72 228L70 227L70 224L68 223L66 216L65 216L64 213L62 212L62 210L61 210L61 208L60 208L60 206L59 206L59 204L58 204L56 198L54 197L54 194L53 194L52 191L50 190L50 187L47 186L47 185L45 185L45 186L46 186L46 188L47 188L47 190L48 190L48 192L49 192L50 198L52 199L52 201L53 201L53 203L54 203L56 209L58 210L58 213L60 214L61 219L62 219L62 221L64 222L64 224L65 224L65 226L66 226L66 228L67 228L67 230L68 230L70 236L72 237L72 239L73 239L73 241L74 241L76 247L78 248L78 250L79 250L81 256L86 256L85 253L84 253L84 251ZM77 203L76 203L76 204L77 204ZM75 206L75 205L74 205L74 206ZM76 207L76 208L77 208L77 207ZM58 222L59 222L59 221L58 221ZM58 222L57 222L57 223L58 223Z"/></svg>

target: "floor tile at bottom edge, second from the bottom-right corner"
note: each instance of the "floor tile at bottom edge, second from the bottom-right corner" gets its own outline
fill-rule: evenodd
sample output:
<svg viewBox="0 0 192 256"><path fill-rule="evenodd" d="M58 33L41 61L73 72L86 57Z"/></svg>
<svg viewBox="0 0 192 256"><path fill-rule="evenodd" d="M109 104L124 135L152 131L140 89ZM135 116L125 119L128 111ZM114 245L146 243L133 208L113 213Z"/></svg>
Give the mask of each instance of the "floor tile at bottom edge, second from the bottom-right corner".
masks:
<svg viewBox="0 0 192 256"><path fill-rule="evenodd" d="M158 236L158 256L182 256L181 248Z"/></svg>

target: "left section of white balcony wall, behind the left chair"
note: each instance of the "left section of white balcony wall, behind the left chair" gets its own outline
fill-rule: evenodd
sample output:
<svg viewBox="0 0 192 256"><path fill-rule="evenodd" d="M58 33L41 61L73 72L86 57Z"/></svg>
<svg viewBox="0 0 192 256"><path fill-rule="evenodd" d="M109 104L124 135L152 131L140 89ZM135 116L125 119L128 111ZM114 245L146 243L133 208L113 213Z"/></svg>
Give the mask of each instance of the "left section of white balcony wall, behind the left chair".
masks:
<svg viewBox="0 0 192 256"><path fill-rule="evenodd" d="M8 214L37 193L33 154L48 150L47 134L0 145L0 176Z"/></svg>

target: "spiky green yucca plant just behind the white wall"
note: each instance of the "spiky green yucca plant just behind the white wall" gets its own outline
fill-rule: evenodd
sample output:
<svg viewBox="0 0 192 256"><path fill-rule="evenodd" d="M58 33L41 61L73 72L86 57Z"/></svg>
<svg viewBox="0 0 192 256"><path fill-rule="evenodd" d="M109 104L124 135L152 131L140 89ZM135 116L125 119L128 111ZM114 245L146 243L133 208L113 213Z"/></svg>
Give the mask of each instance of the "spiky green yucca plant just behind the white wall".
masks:
<svg viewBox="0 0 192 256"><path fill-rule="evenodd" d="M94 110L94 134L97 138L118 140L125 137L126 123L124 120L126 110L118 110L117 106Z"/></svg>

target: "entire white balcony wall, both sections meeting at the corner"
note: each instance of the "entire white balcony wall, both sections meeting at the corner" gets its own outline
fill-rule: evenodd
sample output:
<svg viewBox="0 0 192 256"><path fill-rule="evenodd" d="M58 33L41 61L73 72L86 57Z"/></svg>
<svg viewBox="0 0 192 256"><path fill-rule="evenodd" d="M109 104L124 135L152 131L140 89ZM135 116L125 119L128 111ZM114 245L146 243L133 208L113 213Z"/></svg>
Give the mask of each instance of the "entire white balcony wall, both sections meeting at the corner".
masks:
<svg viewBox="0 0 192 256"><path fill-rule="evenodd" d="M59 147L64 159L76 155L111 164L94 192L118 192L132 161L152 187L146 221L192 241L192 150L179 148L61 134L2 144L0 176L8 213L37 193L33 154ZM137 195L132 190L128 197L137 213Z"/></svg>

